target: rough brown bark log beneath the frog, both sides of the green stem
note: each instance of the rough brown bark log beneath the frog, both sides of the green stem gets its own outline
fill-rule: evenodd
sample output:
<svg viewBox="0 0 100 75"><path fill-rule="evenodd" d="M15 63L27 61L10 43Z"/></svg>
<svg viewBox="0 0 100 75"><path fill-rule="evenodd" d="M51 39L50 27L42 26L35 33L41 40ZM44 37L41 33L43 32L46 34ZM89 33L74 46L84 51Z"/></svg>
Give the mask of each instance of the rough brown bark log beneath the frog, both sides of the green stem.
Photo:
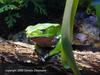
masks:
<svg viewBox="0 0 100 75"><path fill-rule="evenodd" d="M73 53L80 69L100 72L100 52L73 51ZM39 60L34 45L13 41L0 43L0 57L7 62L17 60L36 64Z"/></svg>

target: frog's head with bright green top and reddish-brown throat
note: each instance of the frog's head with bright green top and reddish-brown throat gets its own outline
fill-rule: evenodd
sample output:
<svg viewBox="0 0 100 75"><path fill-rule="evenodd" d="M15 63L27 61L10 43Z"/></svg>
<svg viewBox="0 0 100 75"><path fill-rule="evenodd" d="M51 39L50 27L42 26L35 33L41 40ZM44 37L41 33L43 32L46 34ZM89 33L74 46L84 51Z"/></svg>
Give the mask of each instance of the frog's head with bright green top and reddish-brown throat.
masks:
<svg viewBox="0 0 100 75"><path fill-rule="evenodd" d="M42 47L50 47L55 43L55 37L60 34L60 25L41 23L34 26L28 26L25 31L27 37L31 38L32 42L35 42Z"/></svg>

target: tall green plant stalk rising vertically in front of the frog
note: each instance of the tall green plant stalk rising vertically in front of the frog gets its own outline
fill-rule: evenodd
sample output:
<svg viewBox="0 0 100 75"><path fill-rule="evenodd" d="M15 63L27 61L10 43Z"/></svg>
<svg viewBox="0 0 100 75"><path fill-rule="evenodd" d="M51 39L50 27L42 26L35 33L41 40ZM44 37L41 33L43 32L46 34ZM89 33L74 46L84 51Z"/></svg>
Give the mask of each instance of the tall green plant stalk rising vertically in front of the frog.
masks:
<svg viewBox="0 0 100 75"><path fill-rule="evenodd" d="M74 17L76 14L77 6L79 0L67 0L63 22L62 22L62 29L61 29L61 39L62 39L62 50L61 50L61 57L62 57L62 64L66 68L67 63L70 65L71 69L74 72L74 75L80 75L80 72L76 66L73 52L72 52L72 35L73 35L73 26L74 26Z"/></svg>

